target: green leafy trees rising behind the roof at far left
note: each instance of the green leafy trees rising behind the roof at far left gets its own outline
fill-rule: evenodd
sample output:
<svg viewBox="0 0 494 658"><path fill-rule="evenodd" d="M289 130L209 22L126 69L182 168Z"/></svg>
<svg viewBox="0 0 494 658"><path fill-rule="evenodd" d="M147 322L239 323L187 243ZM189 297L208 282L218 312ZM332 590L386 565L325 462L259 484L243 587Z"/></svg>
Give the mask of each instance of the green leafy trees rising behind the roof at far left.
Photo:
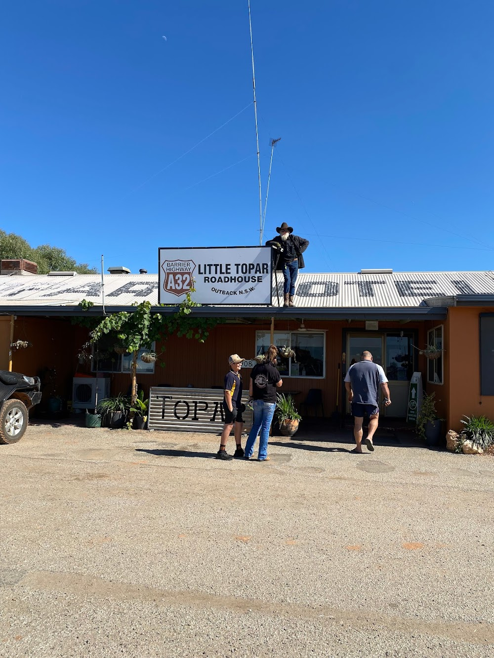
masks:
<svg viewBox="0 0 494 658"><path fill-rule="evenodd" d="M24 258L38 264L38 274L48 272L78 272L78 274L97 274L96 268L87 263L77 263L67 255L65 249L40 245L31 247L28 241L15 233L7 234L0 230L0 259Z"/></svg>

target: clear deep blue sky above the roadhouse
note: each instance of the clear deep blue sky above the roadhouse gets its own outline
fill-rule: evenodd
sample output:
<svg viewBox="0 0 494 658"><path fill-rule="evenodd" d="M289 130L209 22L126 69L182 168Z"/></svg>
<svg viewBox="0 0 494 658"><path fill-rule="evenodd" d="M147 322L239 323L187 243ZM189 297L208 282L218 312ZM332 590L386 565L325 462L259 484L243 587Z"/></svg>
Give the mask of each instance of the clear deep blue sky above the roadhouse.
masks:
<svg viewBox="0 0 494 658"><path fill-rule="evenodd" d="M281 137L265 240L294 226L307 272L493 268L494 5L251 10L263 193ZM2 23L3 230L133 272L258 244L247 0L17 0Z"/></svg>

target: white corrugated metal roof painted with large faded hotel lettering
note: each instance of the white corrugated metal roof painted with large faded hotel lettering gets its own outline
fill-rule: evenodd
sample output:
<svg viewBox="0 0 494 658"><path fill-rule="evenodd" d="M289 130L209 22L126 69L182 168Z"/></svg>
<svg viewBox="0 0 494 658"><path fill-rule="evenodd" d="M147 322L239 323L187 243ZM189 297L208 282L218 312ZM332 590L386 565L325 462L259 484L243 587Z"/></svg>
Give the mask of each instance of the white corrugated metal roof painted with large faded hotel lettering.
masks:
<svg viewBox="0 0 494 658"><path fill-rule="evenodd" d="M278 275L283 305L283 276ZM157 274L105 274L105 304L125 307L149 300L157 304ZM296 286L299 308L416 307L424 299L454 295L494 294L490 272L393 272L393 274L300 273ZM82 299L101 305L101 276L0 276L2 307L77 306ZM276 293L273 305L278 306Z"/></svg>

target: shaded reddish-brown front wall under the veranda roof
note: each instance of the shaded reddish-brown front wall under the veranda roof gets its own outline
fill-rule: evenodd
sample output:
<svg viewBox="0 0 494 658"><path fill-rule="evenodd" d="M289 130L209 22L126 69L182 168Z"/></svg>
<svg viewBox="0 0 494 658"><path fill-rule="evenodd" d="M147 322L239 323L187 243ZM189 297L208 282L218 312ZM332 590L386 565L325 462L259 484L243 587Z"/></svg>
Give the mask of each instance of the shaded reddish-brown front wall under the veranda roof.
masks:
<svg viewBox="0 0 494 658"><path fill-rule="evenodd" d="M337 388L342 387L343 370L340 379L337 380L338 364L342 360L342 336L343 330L360 332L365 330L364 322L346 320L317 322L305 320L306 328L314 330L325 330L326 332L326 371L324 379L306 379L284 377L285 390L298 390L300 395L296 403L304 400L310 388L321 388L323 391L323 404L325 415L331 415L336 409ZM417 330L417 344L425 345L427 329L436 326L437 322L379 322L379 331ZM9 322L0 322L1 328L9 327ZM277 320L275 330L297 330L298 322ZM206 343L198 343L196 340L186 338L170 338L165 344L163 359L165 368L156 366L154 374L139 374L138 382L142 384L144 392L148 394L150 386L159 384L172 384L173 386L187 386L193 384L195 388L209 388L210 386L222 386L223 377L227 372L228 356L238 353L241 357L251 359L256 351L256 330L269 331L270 320L258 322L257 324L221 324L215 327L207 338ZM478 332L477 332L478 334ZM8 345L7 338L1 338L0 333L0 355ZM22 349L14 354L14 370L24 374L39 375L40 370L46 367L55 367L57 370L57 393L65 399L72 395L72 378L76 372L90 373L87 365L78 364L77 352L87 340L87 330L71 324L65 318L29 318L18 316L15 324L14 340L28 340L33 343L32 347ZM447 338L445 338L447 340ZM157 352L160 351L157 345ZM7 347L8 356L8 347ZM418 368L422 371L424 382L427 381L426 362L424 357L419 358ZM242 370L245 385L248 385L250 370ZM101 375L100 375L101 376ZM112 394L128 391L130 374L111 374ZM425 384L431 387L430 384ZM343 387L342 387L343 388ZM341 409L342 388L339 390L339 405ZM437 395L441 405L446 405L446 387L434 387L441 389L441 395ZM46 392L49 394L49 392ZM446 409L441 411L444 415Z"/></svg>

